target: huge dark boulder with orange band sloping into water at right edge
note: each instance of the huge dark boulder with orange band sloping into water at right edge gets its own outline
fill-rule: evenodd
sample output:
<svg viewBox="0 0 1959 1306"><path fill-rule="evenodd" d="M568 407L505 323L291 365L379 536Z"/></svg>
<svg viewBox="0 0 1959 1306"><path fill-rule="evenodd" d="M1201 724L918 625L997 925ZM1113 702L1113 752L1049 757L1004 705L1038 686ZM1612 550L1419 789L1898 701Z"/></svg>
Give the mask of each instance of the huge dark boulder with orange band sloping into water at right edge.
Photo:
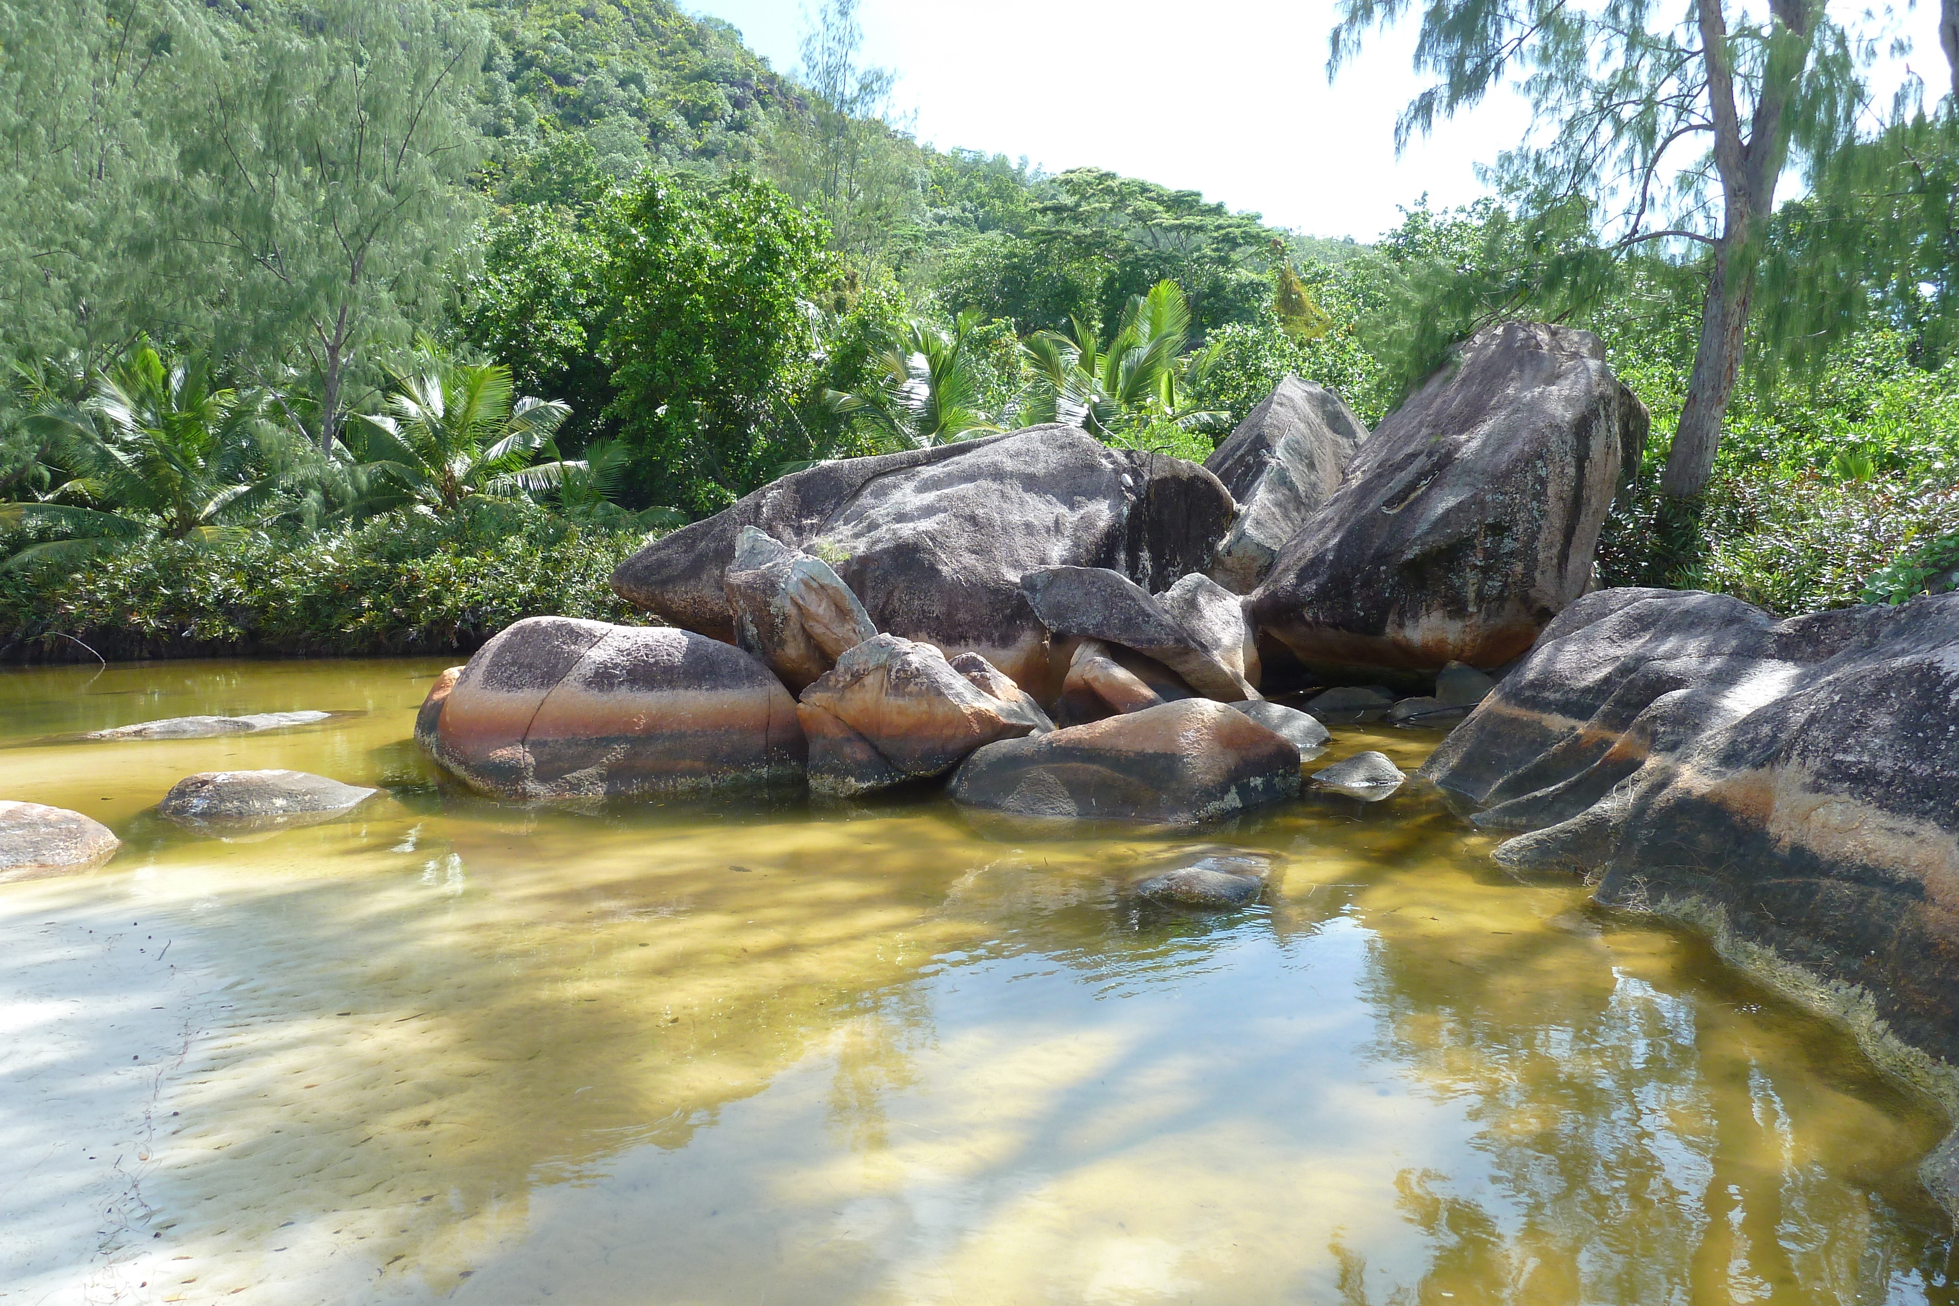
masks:
<svg viewBox="0 0 1959 1306"><path fill-rule="evenodd" d="M1959 595L1589 593L1424 770L1526 830L1501 862L1771 950L1767 979L1959 1063Z"/></svg>

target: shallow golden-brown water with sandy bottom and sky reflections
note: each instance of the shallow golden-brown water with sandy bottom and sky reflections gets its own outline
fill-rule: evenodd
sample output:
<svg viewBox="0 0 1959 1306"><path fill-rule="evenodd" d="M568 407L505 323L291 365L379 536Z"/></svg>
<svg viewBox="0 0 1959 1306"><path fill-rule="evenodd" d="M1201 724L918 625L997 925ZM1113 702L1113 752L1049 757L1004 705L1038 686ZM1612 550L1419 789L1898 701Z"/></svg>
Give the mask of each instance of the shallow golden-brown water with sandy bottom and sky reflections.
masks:
<svg viewBox="0 0 1959 1306"><path fill-rule="evenodd" d="M407 742L439 668L0 674L0 797L125 840L0 885L0 1302L1953 1300L1939 1116L1418 785L1197 836L527 811ZM292 709L343 715L72 738ZM390 793L145 815L268 766ZM1203 844L1267 901L1126 897Z"/></svg>

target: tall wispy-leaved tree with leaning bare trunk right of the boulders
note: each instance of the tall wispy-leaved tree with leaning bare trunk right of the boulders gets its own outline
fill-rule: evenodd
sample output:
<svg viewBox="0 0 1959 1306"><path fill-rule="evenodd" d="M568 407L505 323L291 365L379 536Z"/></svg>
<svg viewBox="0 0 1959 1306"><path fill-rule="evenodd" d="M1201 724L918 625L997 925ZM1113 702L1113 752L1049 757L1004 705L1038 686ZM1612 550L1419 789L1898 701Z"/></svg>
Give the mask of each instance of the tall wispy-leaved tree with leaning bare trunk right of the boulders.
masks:
<svg viewBox="0 0 1959 1306"><path fill-rule="evenodd" d="M1410 0L1342 0L1328 74ZM1397 145L1438 116L1516 84L1550 123L1497 164L1526 206L1583 200L1612 251L1700 247L1706 298L1663 490L1700 493L1749 333L1749 309L1792 163L1816 166L1853 139L1863 84L1851 35L1824 0L1434 0L1416 67L1436 82L1397 123Z"/></svg>

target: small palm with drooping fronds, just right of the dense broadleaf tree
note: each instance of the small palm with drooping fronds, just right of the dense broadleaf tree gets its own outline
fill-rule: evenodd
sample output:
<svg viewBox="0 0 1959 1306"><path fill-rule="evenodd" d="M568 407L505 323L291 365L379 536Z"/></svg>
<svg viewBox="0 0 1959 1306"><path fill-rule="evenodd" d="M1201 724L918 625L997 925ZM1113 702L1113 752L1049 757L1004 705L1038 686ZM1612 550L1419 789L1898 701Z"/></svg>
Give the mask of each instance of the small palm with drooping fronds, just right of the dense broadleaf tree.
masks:
<svg viewBox="0 0 1959 1306"><path fill-rule="evenodd" d="M960 313L952 331L921 317L903 321L872 352L874 388L862 394L823 392L840 417L864 419L882 443L927 448L999 431L980 407L972 331L980 315Z"/></svg>

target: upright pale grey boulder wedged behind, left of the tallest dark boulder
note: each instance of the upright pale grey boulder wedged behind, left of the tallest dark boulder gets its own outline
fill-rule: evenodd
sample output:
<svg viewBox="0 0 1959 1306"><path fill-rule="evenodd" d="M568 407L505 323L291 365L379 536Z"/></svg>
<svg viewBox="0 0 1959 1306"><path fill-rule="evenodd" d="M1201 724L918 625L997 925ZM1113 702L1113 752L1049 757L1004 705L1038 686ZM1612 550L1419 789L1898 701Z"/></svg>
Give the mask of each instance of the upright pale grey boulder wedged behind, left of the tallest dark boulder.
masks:
<svg viewBox="0 0 1959 1306"><path fill-rule="evenodd" d="M1332 497L1367 427L1330 390L1287 376L1205 458L1238 499L1238 521L1218 542L1211 576L1250 593L1273 560Z"/></svg>

